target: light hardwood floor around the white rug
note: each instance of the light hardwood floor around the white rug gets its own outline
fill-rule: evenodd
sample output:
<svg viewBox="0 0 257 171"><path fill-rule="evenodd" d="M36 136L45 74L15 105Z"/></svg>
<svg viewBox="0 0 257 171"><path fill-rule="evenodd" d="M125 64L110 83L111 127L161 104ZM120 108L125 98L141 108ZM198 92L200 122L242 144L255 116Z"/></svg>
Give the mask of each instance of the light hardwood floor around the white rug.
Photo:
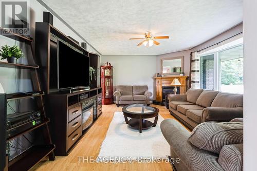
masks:
<svg viewBox="0 0 257 171"><path fill-rule="evenodd" d="M159 108L159 113L164 119L173 118L166 107L151 105ZM105 138L108 126L112 121L115 111L121 111L122 107L113 105L102 106L102 115L96 123L87 131L78 145L69 156L56 157L55 161L43 160L31 170L172 170L170 163L79 163L78 157L93 156L95 160L99 154L101 144ZM88 158L89 159L89 158Z"/></svg>

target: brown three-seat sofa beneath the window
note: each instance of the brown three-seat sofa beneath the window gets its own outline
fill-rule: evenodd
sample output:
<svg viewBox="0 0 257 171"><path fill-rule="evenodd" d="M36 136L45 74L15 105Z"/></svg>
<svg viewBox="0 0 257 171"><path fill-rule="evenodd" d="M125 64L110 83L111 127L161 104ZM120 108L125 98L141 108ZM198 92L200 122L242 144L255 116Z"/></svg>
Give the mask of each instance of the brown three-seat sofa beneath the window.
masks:
<svg viewBox="0 0 257 171"><path fill-rule="evenodd" d="M170 94L168 98L171 114L190 129L207 121L243 118L243 94L189 89L185 95Z"/></svg>

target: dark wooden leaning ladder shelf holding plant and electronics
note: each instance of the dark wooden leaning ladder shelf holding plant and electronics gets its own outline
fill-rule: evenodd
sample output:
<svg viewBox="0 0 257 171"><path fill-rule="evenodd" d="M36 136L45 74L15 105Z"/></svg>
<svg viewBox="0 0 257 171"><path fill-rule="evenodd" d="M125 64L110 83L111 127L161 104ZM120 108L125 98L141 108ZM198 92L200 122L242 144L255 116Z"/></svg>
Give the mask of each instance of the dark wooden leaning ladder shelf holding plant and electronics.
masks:
<svg viewBox="0 0 257 171"><path fill-rule="evenodd" d="M31 37L11 33L3 28L0 28L0 31L1 33L3 32L8 33L8 34L1 34L3 36L9 37L10 39L23 42L29 45L28 47L30 47L32 51L31 43L33 42L33 39ZM53 150L55 149L55 145L52 144L52 140L49 132L49 126L48 126L48 123L50 122L50 120L46 117L45 107L43 102L44 91L41 91L41 86L40 86L39 76L38 76L39 66L35 64L33 52L32 52L32 56L28 56L28 63L29 65L0 62L0 67L29 69L31 74L31 81L33 84L33 91L39 92L36 94L24 94L24 93L23 94L22 93L5 94L5 97L6 97L5 105L7 105L8 101L36 97L35 98L36 104L38 105L38 108L41 110L42 122L38 125L35 125L27 130L20 132L17 135L9 137L7 141L10 141L32 130L39 129L39 131L42 131L45 144L33 145L32 147L24 151L19 156L9 161L7 164L8 166L5 168L5 170L28 170L47 156L49 160L55 160L55 156L53 153ZM0 124L6 124L6 121L0 121L0 122L3 122Z"/></svg>

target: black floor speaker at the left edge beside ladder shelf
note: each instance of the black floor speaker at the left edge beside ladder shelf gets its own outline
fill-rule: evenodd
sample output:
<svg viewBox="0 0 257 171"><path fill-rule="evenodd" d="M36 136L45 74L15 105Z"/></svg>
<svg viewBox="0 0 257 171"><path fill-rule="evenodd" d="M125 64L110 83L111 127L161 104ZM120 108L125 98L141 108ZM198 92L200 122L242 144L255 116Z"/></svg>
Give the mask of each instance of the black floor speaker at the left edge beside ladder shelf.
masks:
<svg viewBox="0 0 257 171"><path fill-rule="evenodd" d="M6 165L6 96L0 93L0 170Z"/></svg>

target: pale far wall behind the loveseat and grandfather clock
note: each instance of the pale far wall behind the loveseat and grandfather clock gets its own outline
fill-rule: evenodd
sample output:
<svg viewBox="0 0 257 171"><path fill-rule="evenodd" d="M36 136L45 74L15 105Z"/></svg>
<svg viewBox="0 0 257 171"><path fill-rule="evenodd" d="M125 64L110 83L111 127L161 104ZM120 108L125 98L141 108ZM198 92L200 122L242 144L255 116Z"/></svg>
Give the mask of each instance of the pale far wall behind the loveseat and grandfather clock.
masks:
<svg viewBox="0 0 257 171"><path fill-rule="evenodd" d="M114 66L114 91L117 85L148 85L154 92L156 55L102 55L101 65Z"/></svg>

